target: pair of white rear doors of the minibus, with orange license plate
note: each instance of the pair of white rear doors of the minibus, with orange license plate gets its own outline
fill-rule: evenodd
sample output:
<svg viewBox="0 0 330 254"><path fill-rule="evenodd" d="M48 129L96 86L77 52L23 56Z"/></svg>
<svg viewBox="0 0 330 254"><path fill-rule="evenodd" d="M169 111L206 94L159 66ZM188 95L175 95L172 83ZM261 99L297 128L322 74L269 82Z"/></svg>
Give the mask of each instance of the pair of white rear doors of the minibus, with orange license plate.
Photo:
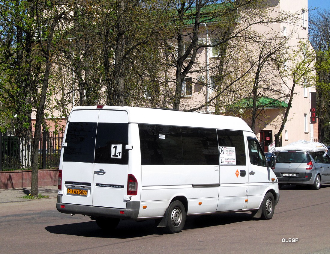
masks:
<svg viewBox="0 0 330 254"><path fill-rule="evenodd" d="M126 208L127 112L72 111L64 144L62 202Z"/></svg>

